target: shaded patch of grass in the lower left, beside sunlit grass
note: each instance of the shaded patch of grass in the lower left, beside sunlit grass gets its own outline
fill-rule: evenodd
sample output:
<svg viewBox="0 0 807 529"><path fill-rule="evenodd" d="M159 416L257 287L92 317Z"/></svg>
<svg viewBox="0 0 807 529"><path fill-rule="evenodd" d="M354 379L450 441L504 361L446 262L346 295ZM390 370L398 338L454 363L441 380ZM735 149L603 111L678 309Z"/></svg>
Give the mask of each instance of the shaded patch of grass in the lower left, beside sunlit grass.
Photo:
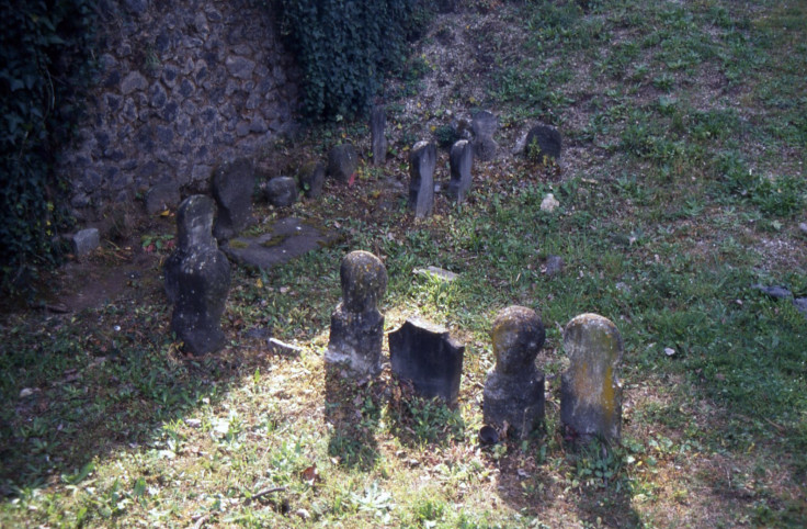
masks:
<svg viewBox="0 0 807 529"><path fill-rule="evenodd" d="M185 357L168 322L168 308L154 300L2 322L0 497L75 485L95 458L115 450L166 448L163 425L215 405L265 363L248 345Z"/></svg>

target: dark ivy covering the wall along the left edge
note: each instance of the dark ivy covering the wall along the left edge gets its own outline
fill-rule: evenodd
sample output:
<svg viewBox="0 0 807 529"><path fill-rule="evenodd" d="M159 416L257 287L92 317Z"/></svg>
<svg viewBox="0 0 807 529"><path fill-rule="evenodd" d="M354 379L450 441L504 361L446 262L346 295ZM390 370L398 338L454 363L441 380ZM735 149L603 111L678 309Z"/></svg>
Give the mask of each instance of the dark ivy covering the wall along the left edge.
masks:
<svg viewBox="0 0 807 529"><path fill-rule="evenodd" d="M21 284L59 257L67 181L54 171L92 80L92 0L0 5L0 284Z"/></svg>

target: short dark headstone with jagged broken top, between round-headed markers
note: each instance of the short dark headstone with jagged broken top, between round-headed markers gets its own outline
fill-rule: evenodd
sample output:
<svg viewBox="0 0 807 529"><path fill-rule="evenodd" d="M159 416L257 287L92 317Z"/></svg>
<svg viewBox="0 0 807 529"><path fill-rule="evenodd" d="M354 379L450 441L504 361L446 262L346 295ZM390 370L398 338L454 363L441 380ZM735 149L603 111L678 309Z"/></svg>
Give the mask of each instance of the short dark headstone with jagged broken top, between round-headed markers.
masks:
<svg viewBox="0 0 807 529"><path fill-rule="evenodd" d="M450 406L457 402L465 346L448 329L418 318L407 319L389 334L393 372L412 381L414 391L427 398L440 397Z"/></svg>

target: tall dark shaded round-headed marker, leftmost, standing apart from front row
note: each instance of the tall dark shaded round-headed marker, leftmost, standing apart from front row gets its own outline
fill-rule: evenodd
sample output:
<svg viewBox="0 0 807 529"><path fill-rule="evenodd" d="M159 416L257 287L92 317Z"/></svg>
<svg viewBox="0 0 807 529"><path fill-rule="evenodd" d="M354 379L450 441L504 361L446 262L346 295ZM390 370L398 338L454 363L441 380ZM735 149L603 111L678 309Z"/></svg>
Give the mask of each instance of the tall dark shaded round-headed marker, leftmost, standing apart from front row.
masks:
<svg viewBox="0 0 807 529"><path fill-rule="evenodd" d="M220 319L230 286L230 263L213 238L213 201L194 195L177 214L178 250L166 262L166 291L173 297L171 329L192 354L224 347Z"/></svg>

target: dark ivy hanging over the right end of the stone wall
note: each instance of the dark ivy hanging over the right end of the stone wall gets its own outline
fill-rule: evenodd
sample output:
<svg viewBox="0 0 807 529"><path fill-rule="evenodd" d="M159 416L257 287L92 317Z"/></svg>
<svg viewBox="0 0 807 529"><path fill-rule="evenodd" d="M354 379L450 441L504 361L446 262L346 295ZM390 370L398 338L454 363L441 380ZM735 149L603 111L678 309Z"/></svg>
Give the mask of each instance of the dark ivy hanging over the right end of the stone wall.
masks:
<svg viewBox="0 0 807 529"><path fill-rule="evenodd" d="M420 0L276 0L275 9L309 119L364 113L428 18Z"/></svg>

